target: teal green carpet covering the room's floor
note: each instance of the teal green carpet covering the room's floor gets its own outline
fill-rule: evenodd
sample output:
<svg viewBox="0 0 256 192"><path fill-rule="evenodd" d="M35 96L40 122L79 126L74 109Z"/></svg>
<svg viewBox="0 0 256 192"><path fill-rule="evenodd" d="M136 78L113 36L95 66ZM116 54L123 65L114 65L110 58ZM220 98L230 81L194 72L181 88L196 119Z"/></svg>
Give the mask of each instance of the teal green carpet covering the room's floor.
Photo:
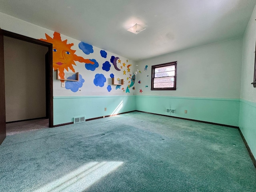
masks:
<svg viewBox="0 0 256 192"><path fill-rule="evenodd" d="M235 128L132 112L8 135L1 192L256 192Z"/></svg>

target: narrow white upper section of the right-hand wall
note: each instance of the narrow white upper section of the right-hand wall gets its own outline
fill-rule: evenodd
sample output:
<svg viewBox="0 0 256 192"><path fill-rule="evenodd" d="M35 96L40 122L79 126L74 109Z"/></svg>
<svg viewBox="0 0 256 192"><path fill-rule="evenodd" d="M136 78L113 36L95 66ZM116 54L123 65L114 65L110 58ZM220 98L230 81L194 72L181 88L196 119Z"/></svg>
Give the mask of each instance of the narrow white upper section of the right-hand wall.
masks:
<svg viewBox="0 0 256 192"><path fill-rule="evenodd" d="M255 38L256 38L256 6L244 33L241 98L256 102L256 88L251 84L254 77Z"/></svg>

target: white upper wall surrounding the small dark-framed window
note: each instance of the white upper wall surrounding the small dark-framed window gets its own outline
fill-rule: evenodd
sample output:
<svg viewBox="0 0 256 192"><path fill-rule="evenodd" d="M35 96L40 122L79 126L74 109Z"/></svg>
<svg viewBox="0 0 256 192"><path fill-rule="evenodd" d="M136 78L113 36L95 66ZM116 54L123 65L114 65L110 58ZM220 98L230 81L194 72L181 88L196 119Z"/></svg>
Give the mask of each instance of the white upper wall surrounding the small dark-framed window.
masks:
<svg viewBox="0 0 256 192"><path fill-rule="evenodd" d="M138 95L240 98L242 37L137 62ZM177 61L176 90L151 91L151 66ZM144 70L148 65L148 70ZM148 87L146 87L148 86ZM140 93L142 89L142 93Z"/></svg>

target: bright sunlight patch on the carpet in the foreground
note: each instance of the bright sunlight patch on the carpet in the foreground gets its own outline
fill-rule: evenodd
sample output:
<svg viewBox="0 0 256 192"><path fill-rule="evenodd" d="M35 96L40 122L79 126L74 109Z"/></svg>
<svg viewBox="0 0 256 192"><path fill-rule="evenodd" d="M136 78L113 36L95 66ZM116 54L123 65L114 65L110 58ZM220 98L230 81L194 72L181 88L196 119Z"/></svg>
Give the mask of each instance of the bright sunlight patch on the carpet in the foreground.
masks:
<svg viewBox="0 0 256 192"><path fill-rule="evenodd" d="M122 164L116 161L90 162L34 192L82 192Z"/></svg>

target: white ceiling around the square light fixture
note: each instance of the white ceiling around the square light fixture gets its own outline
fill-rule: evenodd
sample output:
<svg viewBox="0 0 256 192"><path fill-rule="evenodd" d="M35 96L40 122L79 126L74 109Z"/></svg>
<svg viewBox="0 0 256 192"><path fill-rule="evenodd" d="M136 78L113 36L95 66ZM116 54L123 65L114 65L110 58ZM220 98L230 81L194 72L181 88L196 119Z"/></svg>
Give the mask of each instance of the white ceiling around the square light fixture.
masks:
<svg viewBox="0 0 256 192"><path fill-rule="evenodd" d="M142 60L240 37L256 0L0 0L0 12ZM126 31L135 23L146 30Z"/></svg>

